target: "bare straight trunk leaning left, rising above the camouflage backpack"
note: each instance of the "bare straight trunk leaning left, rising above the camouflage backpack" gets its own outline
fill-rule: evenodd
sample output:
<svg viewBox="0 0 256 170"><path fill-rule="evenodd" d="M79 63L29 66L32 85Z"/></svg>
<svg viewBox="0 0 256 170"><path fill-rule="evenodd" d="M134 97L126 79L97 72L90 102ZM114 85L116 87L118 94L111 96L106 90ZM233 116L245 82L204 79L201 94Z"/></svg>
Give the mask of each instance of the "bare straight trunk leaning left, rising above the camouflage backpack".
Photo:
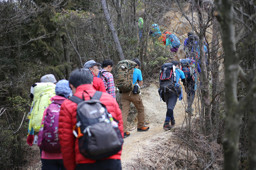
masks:
<svg viewBox="0 0 256 170"><path fill-rule="evenodd" d="M106 6L106 0L101 0L101 5L102 5L102 9L103 9L106 21L108 23L109 29L112 33L113 40L114 40L114 43L116 45L116 50L117 50L118 56L119 56L120 60L125 60L121 45L120 45L119 40L118 40L118 36L116 34L116 30L114 28L114 25L112 23L112 20L110 19L109 13L108 13L108 9L107 9L107 6Z"/></svg>

